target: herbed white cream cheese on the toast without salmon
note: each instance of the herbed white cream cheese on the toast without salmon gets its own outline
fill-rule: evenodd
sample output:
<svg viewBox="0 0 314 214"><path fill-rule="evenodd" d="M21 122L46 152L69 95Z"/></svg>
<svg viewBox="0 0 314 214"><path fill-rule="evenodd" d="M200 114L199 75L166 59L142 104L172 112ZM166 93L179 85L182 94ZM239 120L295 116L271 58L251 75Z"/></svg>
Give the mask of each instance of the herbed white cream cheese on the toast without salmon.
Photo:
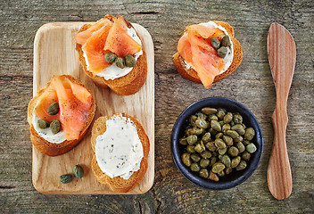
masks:
<svg viewBox="0 0 314 214"><path fill-rule="evenodd" d="M140 169L143 146L131 119L116 115L106 121L106 131L97 136L95 156L103 173L128 179Z"/></svg>

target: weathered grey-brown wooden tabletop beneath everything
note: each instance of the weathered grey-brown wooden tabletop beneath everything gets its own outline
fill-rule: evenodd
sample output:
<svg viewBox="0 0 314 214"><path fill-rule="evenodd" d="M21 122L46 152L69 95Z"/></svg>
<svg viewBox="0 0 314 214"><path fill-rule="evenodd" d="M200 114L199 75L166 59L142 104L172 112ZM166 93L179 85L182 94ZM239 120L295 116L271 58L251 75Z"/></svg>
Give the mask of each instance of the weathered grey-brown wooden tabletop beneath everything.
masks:
<svg viewBox="0 0 314 214"><path fill-rule="evenodd" d="M52 21L96 21L121 14L144 26L155 50L155 177L143 195L46 195L31 182L27 106L32 97L33 42L37 29ZM172 55L186 25L227 21L244 46L244 60L210 90L178 75ZM275 87L266 39L277 21L293 35L297 61L288 100L287 147L293 193L277 201L266 172L273 141ZM314 2L306 1L9 1L0 2L0 210L78 213L313 213L314 212ZM259 168L242 185L208 191L189 183L175 167L170 133L187 105L211 96L244 103L264 135Z"/></svg>

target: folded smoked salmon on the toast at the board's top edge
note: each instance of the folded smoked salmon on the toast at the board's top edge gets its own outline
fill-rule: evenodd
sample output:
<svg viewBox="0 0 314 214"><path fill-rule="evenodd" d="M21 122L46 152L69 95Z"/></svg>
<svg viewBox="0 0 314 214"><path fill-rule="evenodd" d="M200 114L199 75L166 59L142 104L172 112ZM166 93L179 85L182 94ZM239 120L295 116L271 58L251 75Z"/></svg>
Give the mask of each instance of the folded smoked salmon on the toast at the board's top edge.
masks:
<svg viewBox="0 0 314 214"><path fill-rule="evenodd" d="M105 53L112 52L118 57L125 57L142 49L142 45L128 35L128 24L122 16L111 20L104 17L88 29L78 32L75 41L82 45L87 57L87 69L94 75L111 65L104 60Z"/></svg>

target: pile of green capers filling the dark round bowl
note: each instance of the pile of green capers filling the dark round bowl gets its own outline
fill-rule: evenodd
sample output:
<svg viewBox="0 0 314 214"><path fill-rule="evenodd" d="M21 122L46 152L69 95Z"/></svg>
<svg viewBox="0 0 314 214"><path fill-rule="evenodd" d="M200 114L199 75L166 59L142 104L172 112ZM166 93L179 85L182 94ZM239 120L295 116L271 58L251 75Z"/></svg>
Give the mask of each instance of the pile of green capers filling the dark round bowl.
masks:
<svg viewBox="0 0 314 214"><path fill-rule="evenodd" d="M255 130L244 125L240 114L205 107L190 117L186 135L179 139L185 146L181 159L201 177L219 181L247 167L257 150L251 142L254 136Z"/></svg>

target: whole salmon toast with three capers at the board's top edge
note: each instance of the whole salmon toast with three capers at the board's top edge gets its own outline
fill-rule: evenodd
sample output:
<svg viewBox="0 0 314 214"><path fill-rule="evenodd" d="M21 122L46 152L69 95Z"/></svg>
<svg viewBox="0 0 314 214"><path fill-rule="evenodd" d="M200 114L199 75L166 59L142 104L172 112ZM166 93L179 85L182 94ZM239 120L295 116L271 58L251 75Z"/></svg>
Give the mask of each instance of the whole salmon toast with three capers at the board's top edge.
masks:
<svg viewBox="0 0 314 214"><path fill-rule="evenodd" d="M147 62L142 41L121 16L87 23L75 36L78 60L98 86L117 95L134 95L145 84Z"/></svg>

